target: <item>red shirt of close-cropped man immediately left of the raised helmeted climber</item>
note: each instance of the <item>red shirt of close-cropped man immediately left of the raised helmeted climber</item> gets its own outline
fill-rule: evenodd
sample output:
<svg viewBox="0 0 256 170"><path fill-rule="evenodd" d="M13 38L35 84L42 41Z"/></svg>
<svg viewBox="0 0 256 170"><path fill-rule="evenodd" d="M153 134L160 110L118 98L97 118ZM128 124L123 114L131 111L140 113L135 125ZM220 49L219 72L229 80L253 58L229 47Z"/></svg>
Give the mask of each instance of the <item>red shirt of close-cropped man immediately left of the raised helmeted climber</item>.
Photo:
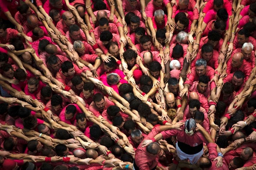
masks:
<svg viewBox="0 0 256 170"><path fill-rule="evenodd" d="M146 139L151 139L154 136L156 136L158 133L160 133L160 128L159 126L154 127L152 131L144 138ZM135 163L139 167L140 170L150 170L153 169L155 166L157 166L158 163L158 155L157 156L152 156L149 155L149 153L146 151L146 147L141 146L142 143L138 146L138 148L135 151Z"/></svg>

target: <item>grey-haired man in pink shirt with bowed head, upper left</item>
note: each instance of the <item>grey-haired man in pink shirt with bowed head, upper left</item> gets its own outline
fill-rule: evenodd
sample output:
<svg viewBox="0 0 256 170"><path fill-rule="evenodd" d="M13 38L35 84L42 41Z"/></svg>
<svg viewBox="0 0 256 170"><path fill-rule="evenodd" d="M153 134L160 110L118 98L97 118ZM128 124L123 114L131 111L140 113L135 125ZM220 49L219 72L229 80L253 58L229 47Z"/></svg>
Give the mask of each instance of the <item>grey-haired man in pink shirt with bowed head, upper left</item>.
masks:
<svg viewBox="0 0 256 170"><path fill-rule="evenodd" d="M96 54L92 46L85 41L75 41L73 47L74 50L77 51L78 55Z"/></svg>

